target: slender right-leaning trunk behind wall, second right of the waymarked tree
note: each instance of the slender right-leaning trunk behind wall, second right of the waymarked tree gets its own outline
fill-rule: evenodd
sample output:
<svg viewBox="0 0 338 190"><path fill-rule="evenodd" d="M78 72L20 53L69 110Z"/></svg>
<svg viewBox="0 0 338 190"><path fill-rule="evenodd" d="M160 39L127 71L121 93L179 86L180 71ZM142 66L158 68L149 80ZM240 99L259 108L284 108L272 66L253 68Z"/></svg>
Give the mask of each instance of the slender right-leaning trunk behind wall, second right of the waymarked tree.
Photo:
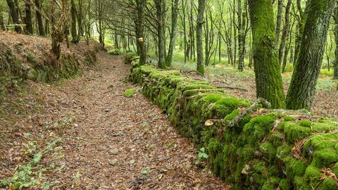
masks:
<svg viewBox="0 0 338 190"><path fill-rule="evenodd" d="M171 66L171 62L173 61L173 51L174 51L174 48L175 48L175 37L176 37L176 29L177 29L177 15L178 15L179 0L172 0L171 3L172 3L172 6L171 6L171 35L170 35L168 54L167 54L167 57L165 58L165 65L167 65L168 67Z"/></svg>

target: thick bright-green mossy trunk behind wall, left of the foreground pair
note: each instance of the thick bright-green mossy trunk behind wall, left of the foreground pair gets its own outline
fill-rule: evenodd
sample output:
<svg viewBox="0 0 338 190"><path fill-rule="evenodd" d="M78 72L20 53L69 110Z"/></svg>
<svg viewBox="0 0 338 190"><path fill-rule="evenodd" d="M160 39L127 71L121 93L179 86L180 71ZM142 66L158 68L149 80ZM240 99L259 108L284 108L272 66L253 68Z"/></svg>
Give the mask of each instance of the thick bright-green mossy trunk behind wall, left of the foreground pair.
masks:
<svg viewBox="0 0 338 190"><path fill-rule="evenodd" d="M284 92L276 50L276 30L272 0L249 0L253 37L253 65L256 96L273 108L284 108Z"/></svg>

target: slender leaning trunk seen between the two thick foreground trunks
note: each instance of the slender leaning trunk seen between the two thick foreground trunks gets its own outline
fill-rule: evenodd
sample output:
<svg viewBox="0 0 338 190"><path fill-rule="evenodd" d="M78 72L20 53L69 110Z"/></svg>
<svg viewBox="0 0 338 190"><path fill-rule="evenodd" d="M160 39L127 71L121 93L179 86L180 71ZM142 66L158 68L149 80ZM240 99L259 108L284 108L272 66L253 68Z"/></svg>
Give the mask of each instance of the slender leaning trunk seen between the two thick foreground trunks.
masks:
<svg viewBox="0 0 338 190"><path fill-rule="evenodd" d="M280 41L280 49L278 51L278 60L279 63L282 63L284 47L287 42L287 38L289 36L289 28L290 28L290 8L291 8L292 0L287 1L287 7L285 8L285 22L282 32L282 39Z"/></svg>

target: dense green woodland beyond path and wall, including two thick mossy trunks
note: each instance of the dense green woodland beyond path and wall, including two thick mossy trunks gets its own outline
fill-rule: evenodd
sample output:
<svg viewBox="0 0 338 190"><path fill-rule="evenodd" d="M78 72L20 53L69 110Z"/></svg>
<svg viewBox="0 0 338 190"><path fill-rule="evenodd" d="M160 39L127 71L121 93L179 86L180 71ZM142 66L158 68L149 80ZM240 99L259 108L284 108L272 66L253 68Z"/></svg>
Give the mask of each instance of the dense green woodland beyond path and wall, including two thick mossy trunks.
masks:
<svg viewBox="0 0 338 190"><path fill-rule="evenodd" d="M338 78L336 0L6 0L0 27L48 36L59 58L60 43L109 42L115 51L147 54L158 68L173 59L196 71L228 64L253 69L256 94L273 108L311 109L321 69ZM324 63L324 64L322 64ZM293 68L284 94L282 75Z"/></svg>

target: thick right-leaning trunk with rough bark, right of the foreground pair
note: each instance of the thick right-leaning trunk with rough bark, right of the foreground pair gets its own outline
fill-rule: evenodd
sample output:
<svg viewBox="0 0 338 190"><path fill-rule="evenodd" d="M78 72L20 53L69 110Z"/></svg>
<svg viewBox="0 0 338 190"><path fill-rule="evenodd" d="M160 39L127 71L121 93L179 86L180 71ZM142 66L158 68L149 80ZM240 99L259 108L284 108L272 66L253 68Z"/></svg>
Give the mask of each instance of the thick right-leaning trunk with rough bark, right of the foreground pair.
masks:
<svg viewBox="0 0 338 190"><path fill-rule="evenodd" d="M327 30L336 0L311 0L294 73L287 93L287 108L311 109Z"/></svg>

